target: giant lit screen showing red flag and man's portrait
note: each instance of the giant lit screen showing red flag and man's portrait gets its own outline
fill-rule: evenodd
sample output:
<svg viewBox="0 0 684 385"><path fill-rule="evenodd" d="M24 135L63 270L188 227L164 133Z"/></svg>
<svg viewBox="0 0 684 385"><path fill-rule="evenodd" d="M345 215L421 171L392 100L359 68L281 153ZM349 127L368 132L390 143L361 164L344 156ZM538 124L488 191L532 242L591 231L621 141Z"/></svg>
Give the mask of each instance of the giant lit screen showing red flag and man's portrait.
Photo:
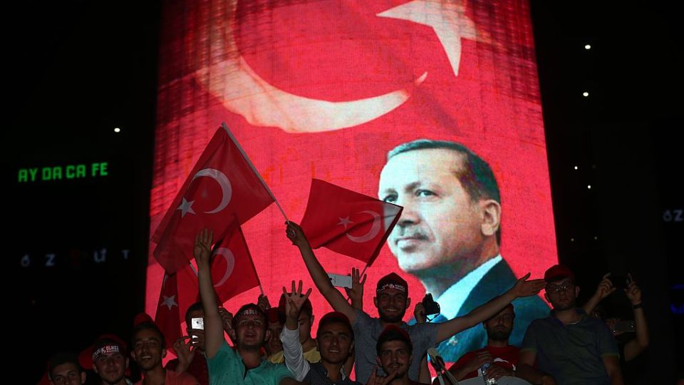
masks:
<svg viewBox="0 0 684 385"><path fill-rule="evenodd" d="M295 222L311 178L404 207L367 270L373 316L388 272L413 304L432 293L448 319L556 262L528 1L168 1L161 39L150 232L224 121ZM243 230L272 304L291 279L313 285L275 205ZM150 314L164 275L154 247ZM363 269L316 255L328 272ZM316 317L331 310L311 299ZM541 298L525 302L516 328L546 312ZM480 347L475 328L440 346L446 359Z"/></svg>

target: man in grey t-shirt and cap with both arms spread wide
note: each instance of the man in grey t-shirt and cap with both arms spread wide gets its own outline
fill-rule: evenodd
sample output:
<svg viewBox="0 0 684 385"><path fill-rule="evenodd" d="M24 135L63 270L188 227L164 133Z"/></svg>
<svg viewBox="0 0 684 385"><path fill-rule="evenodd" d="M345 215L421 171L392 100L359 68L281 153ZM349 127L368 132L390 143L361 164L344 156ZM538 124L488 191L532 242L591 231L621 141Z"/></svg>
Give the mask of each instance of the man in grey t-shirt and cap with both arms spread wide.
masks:
<svg viewBox="0 0 684 385"><path fill-rule="evenodd" d="M486 304L473 309L472 312L463 317L456 317L441 324L418 324L408 326L403 322L403 317L408 309L411 299L408 297L408 284L398 276L390 273L378 281L376 287L376 297L373 304L378 309L379 318L371 318L362 310L358 310L347 302L346 298L338 291L328 278L328 274L316 259L314 250L311 250L309 240L301 230L299 225L294 222L287 223L286 235L293 245L299 247L299 252L304 260L306 269L311 274L316 288L326 298L336 312L345 314L354 328L356 337L356 381L366 383L371 376L373 366L375 366L375 343L378 341L380 332L388 327L395 325L403 327L410 334L413 341L413 356L415 363L409 369L409 378L418 379L418 367L427 349L442 342L454 334L468 329L483 322L485 319L493 317L500 312L507 304L517 297L528 297L537 294L544 287L543 279L527 281L529 274L525 275L515 283L515 285L499 297L495 297ZM414 366L415 365L415 366Z"/></svg>

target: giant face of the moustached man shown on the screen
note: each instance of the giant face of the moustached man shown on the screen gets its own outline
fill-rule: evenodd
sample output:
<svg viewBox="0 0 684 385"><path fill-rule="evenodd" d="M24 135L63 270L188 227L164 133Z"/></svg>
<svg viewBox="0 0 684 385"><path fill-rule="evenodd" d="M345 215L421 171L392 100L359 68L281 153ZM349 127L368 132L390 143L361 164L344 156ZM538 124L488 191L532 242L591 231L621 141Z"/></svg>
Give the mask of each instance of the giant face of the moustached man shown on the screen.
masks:
<svg viewBox="0 0 684 385"><path fill-rule="evenodd" d="M412 150L395 155L380 173L380 199L404 207L388 244L405 272L479 257L482 210L455 175L462 156L442 148Z"/></svg>

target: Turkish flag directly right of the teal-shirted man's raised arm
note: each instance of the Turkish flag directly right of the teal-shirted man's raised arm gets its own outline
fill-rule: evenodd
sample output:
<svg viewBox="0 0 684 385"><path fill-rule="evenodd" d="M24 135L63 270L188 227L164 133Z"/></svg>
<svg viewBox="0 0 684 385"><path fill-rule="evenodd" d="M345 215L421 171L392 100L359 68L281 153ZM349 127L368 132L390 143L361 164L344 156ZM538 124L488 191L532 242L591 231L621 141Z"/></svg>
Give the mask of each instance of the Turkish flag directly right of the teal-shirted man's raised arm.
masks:
<svg viewBox="0 0 684 385"><path fill-rule="evenodd" d="M222 240L214 246L212 282L221 304L237 294L261 286L252 255L237 222L228 227Z"/></svg>

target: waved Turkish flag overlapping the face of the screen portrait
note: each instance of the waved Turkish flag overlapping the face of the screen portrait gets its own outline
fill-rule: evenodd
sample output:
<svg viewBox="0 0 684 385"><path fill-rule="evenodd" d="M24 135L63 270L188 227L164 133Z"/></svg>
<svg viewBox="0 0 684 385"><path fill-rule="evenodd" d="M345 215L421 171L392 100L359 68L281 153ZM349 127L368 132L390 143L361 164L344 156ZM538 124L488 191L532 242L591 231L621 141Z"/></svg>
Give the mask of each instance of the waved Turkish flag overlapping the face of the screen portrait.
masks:
<svg viewBox="0 0 684 385"><path fill-rule="evenodd" d="M301 228L314 249L326 247L370 266L401 210L401 206L313 179Z"/></svg>

